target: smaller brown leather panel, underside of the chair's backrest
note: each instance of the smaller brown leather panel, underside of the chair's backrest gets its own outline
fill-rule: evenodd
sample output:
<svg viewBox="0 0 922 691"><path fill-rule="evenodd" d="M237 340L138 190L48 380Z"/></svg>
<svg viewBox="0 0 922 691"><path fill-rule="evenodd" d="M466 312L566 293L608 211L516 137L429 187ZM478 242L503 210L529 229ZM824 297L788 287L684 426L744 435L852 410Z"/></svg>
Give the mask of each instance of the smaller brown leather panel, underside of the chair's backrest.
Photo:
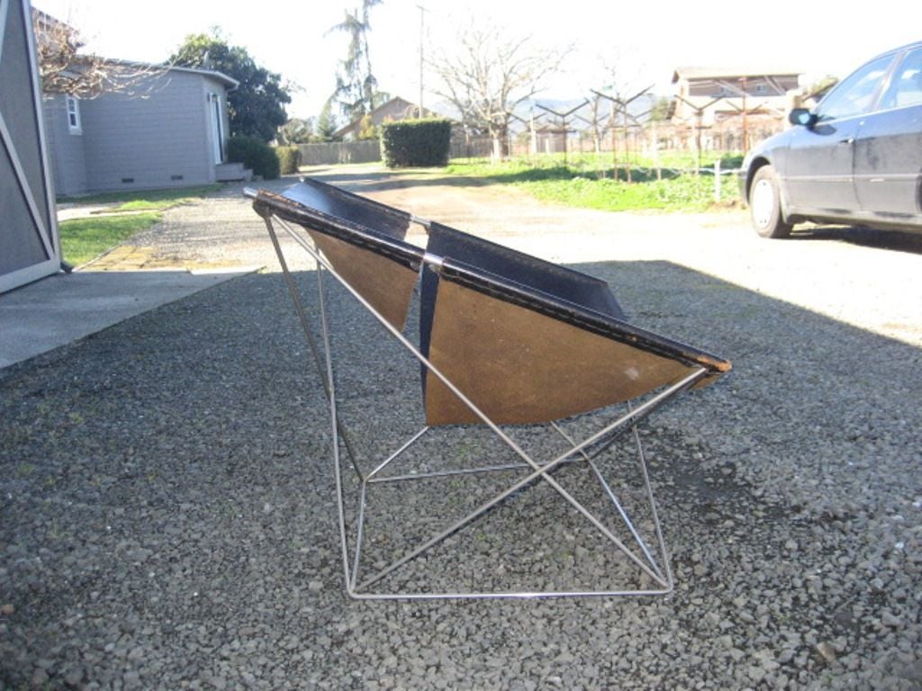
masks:
<svg viewBox="0 0 922 691"><path fill-rule="evenodd" d="M409 301L417 273L375 252L307 228L314 243L333 264L333 268L354 287L362 298L384 315L398 331L407 323Z"/></svg>

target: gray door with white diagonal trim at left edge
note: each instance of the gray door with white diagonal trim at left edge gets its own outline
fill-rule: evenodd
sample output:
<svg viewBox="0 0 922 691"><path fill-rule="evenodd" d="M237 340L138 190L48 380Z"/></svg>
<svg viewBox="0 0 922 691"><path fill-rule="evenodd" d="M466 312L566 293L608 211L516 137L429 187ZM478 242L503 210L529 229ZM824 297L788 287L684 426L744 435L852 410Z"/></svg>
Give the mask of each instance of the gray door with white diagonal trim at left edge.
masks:
<svg viewBox="0 0 922 691"><path fill-rule="evenodd" d="M61 268L29 0L0 1L0 292Z"/></svg>

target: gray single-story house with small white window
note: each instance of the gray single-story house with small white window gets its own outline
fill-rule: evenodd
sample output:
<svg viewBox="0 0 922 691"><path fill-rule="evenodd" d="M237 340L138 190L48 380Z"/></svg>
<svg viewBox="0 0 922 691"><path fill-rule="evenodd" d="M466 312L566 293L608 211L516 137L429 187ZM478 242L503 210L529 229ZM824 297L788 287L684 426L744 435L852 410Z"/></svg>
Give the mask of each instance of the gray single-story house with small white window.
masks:
<svg viewBox="0 0 922 691"><path fill-rule="evenodd" d="M225 162L227 95L219 72L110 61L130 85L92 99L45 94L44 119L59 195L159 189L242 177Z"/></svg>

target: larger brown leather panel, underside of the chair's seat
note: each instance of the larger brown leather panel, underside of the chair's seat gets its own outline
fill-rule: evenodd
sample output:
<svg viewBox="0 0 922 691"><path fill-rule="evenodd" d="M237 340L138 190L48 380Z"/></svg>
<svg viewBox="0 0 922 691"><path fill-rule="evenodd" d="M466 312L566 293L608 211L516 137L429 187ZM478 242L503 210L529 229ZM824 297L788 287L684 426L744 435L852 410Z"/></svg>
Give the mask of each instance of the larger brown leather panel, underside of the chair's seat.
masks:
<svg viewBox="0 0 922 691"><path fill-rule="evenodd" d="M679 381L681 362L593 334L449 281L435 302L429 356L494 422L547 422ZM429 425L479 419L431 371Z"/></svg>

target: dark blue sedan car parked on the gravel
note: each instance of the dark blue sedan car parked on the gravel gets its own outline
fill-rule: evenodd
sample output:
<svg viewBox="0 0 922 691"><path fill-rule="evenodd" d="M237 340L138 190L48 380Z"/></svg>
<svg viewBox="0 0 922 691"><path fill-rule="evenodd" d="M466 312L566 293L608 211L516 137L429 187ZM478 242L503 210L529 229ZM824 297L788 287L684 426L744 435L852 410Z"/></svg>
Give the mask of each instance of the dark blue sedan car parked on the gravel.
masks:
<svg viewBox="0 0 922 691"><path fill-rule="evenodd" d="M835 86L740 171L762 237L796 223L922 230L922 41L884 53Z"/></svg>

